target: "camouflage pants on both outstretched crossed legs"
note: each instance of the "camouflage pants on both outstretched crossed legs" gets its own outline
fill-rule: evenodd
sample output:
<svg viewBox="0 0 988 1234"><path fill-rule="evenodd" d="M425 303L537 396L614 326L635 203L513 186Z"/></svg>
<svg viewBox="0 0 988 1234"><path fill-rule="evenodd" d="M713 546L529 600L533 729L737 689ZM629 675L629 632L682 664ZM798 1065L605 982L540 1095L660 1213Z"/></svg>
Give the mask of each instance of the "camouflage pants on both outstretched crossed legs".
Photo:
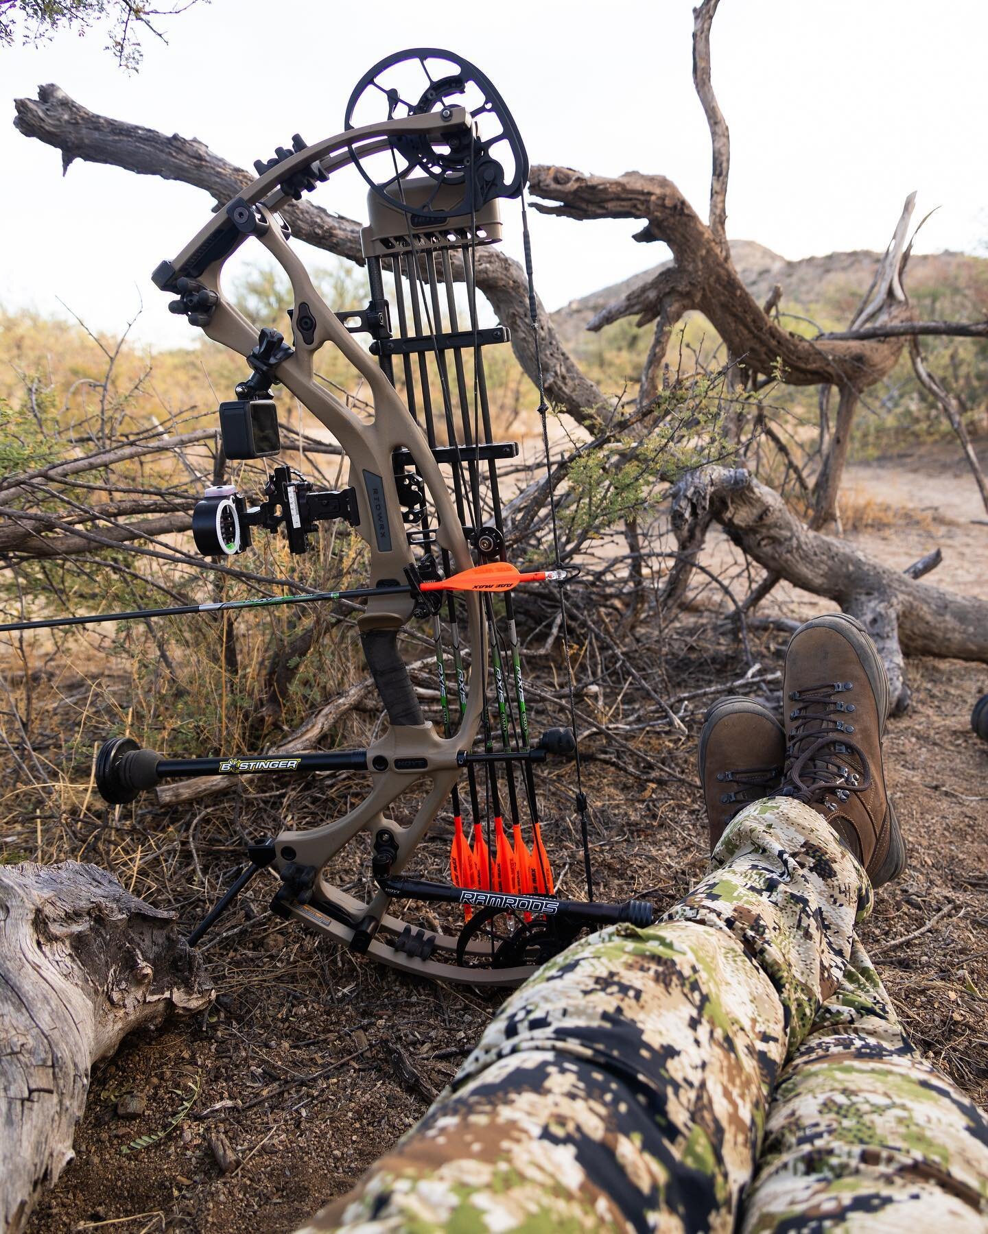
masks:
<svg viewBox="0 0 988 1234"><path fill-rule="evenodd" d="M809 807L727 828L663 922L572 946L309 1229L988 1229L988 1124L905 1040Z"/></svg>

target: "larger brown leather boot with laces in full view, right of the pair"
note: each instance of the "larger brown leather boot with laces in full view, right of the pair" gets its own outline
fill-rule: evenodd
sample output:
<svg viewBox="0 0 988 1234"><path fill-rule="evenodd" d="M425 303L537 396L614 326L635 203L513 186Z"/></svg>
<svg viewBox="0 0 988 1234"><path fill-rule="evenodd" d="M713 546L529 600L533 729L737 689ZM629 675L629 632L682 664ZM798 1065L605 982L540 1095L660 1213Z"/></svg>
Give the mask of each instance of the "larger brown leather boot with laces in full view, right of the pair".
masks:
<svg viewBox="0 0 988 1234"><path fill-rule="evenodd" d="M895 879L905 844L882 769L888 677L861 622L827 613L800 626L785 650L783 697L783 795L826 818L873 886Z"/></svg>

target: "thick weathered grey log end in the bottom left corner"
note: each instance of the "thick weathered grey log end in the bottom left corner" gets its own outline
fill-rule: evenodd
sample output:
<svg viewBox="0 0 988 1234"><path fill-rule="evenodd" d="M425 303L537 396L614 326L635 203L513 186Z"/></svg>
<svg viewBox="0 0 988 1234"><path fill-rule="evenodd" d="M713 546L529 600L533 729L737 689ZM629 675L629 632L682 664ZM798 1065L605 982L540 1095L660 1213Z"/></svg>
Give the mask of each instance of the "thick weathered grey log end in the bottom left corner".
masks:
<svg viewBox="0 0 988 1234"><path fill-rule="evenodd" d="M105 870L0 866L0 1228L23 1229L72 1160L94 1062L211 992L162 912Z"/></svg>

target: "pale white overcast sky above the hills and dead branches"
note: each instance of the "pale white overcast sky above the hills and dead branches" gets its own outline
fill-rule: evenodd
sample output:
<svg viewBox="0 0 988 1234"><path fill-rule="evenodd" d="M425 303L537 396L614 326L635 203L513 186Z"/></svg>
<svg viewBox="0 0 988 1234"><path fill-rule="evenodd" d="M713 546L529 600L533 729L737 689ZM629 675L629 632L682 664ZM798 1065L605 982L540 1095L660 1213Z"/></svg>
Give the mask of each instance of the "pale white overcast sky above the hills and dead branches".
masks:
<svg viewBox="0 0 988 1234"><path fill-rule="evenodd" d="M11 123L12 100L41 83L249 167L296 131L309 142L341 131L366 69L427 42L487 73L532 163L661 173L705 217L710 144L690 75L692 26L692 0L211 0L168 22L167 46L146 38L136 75L116 67L99 31L0 48L0 306L64 313L62 301L103 331L142 308L135 336L156 347L194 333L167 312L149 274L205 222L211 199L82 162L63 179L59 152ZM731 130L729 236L787 258L883 249L915 189L916 217L940 207L919 252L981 251L988 167L972 130L987 39L982 0L722 0L711 59ZM362 218L364 194L347 169L316 200ZM638 227L536 216L543 301L558 307L663 260L664 246L631 242ZM505 244L520 254L514 217Z"/></svg>

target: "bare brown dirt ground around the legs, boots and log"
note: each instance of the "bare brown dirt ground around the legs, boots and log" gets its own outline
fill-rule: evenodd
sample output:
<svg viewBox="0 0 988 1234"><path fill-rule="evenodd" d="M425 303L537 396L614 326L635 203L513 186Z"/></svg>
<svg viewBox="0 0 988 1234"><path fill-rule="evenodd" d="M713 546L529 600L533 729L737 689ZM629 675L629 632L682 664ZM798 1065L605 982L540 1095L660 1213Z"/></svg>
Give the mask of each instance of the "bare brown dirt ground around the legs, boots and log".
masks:
<svg viewBox="0 0 988 1234"><path fill-rule="evenodd" d="M986 515L953 452L853 468L845 515L848 536L876 555L904 566L939 544L945 560L931 581L987 594L988 527L974 521ZM802 618L827 607L779 591L764 611ZM689 656L668 665L682 692L745 671L722 629L695 621ZM785 639L753 632L763 669L779 665ZM879 893L862 938L919 1046L986 1104L988 744L969 714L988 692L988 666L913 660L909 676L913 707L892 722L885 755L910 864ZM661 911L703 871L693 758L706 701L687 713L687 737L655 745L676 779L656 787L590 765L601 896L647 895ZM559 864L577 870L571 830L557 823ZM437 854L445 844L440 829ZM566 890L578 891L572 874ZM41 1201L33 1234L290 1230L416 1122L498 1006L496 996L416 982L322 944L266 914L264 900L263 890L248 893L235 932L207 940L214 1006L133 1037L98 1067L77 1160ZM140 1117L117 1113L127 1095L143 1101Z"/></svg>

